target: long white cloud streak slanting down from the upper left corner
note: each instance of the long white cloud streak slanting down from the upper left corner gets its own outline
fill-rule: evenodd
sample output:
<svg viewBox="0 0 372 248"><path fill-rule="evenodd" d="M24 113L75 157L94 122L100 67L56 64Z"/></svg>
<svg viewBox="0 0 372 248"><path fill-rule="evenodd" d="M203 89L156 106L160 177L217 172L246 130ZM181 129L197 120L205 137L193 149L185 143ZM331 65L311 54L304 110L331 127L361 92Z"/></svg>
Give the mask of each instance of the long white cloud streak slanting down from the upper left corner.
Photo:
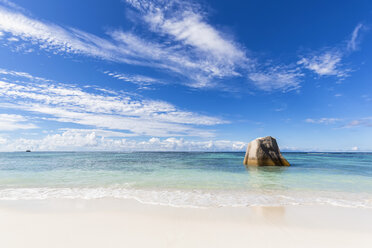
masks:
<svg viewBox="0 0 372 248"><path fill-rule="evenodd" d="M160 45L141 43L140 38L130 33L125 35L121 33L121 40L110 41L75 28L62 27L29 18L24 14L2 8L1 6L0 31L20 37L24 42L28 41L30 45L38 44L40 49L53 53L83 54L104 60L161 67L174 71L177 69L174 66L183 68L189 64L182 64L181 62L184 61L179 59L178 63L176 63L177 61L171 61L176 63L176 65L168 66L166 63L169 61L160 61L167 57L167 52L165 52L164 56L155 56L155 59L153 59L151 57L152 51L162 53ZM119 36L119 34L119 31L111 33L113 36ZM183 60L188 60L188 58L185 57ZM178 68L177 72L182 72L182 70Z"/></svg>

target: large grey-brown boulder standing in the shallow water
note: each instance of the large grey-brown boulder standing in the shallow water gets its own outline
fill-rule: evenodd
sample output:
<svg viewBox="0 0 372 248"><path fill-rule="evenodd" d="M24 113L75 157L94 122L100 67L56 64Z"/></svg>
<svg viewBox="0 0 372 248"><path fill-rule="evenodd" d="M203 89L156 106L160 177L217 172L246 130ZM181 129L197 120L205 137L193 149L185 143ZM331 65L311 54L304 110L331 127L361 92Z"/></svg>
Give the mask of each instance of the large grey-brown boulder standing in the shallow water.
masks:
<svg viewBox="0 0 372 248"><path fill-rule="evenodd" d="M288 161L280 153L276 139L271 136L257 138L248 144L244 164L255 166L290 166Z"/></svg>

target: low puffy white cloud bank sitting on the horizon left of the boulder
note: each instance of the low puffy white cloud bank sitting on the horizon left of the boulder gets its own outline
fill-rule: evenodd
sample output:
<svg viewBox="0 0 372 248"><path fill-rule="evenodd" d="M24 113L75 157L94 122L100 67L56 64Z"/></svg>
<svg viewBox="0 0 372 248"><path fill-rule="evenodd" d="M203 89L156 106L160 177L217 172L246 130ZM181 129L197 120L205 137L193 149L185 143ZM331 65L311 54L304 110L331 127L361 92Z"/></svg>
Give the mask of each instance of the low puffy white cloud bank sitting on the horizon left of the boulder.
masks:
<svg viewBox="0 0 372 248"><path fill-rule="evenodd" d="M182 138L128 140L106 138L92 130L67 130L42 139L16 139L0 143L3 151L243 151L246 143L228 140L189 141ZM1 141L1 140L0 140Z"/></svg>

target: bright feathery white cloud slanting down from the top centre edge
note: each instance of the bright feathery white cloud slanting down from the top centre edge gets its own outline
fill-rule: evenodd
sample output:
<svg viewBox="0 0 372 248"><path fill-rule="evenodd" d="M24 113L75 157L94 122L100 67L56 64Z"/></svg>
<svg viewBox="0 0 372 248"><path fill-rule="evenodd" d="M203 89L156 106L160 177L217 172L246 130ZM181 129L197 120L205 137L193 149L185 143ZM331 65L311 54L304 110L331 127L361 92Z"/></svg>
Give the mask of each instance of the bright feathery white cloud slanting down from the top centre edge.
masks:
<svg viewBox="0 0 372 248"><path fill-rule="evenodd" d="M191 68L197 66L203 71L190 74L193 81L188 85L191 87L214 87L215 79L240 76L253 63L241 45L206 21L205 12L196 3L178 0L126 2L138 10L140 18L154 34L170 44L172 52L167 54L176 54L176 58L186 55L193 62L187 61Z"/></svg>

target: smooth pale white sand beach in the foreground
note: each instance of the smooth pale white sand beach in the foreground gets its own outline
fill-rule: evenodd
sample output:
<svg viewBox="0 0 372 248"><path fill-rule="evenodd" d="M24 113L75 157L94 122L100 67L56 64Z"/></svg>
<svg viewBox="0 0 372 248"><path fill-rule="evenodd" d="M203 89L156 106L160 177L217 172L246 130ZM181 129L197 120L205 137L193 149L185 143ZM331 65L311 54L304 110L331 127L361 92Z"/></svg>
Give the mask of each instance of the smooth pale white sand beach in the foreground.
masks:
<svg viewBox="0 0 372 248"><path fill-rule="evenodd" d="M0 202L0 247L371 247L372 209Z"/></svg>

